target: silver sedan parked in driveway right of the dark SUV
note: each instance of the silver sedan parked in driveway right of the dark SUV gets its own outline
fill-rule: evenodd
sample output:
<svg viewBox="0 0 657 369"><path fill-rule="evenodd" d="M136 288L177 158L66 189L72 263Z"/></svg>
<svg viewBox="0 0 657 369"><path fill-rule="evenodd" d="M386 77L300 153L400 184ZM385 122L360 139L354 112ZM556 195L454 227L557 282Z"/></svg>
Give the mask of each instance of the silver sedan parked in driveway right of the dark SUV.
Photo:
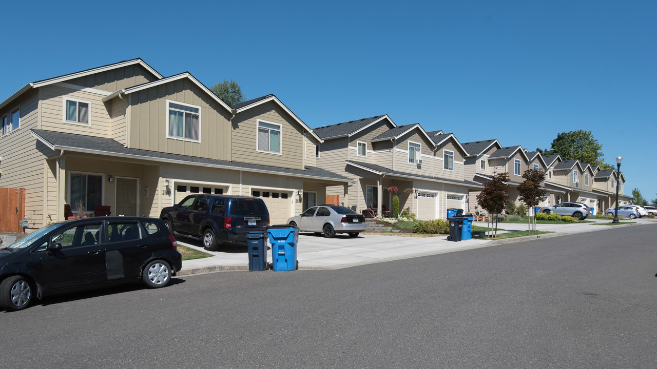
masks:
<svg viewBox="0 0 657 369"><path fill-rule="evenodd" d="M365 216L348 207L335 205L313 206L288 219L288 224L304 232L321 232L326 238L333 238L336 233L356 237L367 227Z"/></svg>

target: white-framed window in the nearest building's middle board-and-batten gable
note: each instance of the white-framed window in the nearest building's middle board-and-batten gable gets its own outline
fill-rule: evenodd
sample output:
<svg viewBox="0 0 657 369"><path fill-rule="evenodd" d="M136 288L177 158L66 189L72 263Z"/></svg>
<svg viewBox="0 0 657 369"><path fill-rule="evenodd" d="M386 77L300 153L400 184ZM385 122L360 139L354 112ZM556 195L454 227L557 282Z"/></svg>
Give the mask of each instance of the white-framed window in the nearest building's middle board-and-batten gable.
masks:
<svg viewBox="0 0 657 369"><path fill-rule="evenodd" d="M166 100L167 138L200 142L200 106Z"/></svg>

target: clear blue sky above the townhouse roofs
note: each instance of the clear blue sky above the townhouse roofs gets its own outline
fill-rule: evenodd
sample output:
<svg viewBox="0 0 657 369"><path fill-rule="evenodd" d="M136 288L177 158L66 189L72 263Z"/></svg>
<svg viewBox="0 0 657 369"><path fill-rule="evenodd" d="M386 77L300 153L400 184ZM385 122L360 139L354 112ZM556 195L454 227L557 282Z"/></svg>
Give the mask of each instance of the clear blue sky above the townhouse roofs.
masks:
<svg viewBox="0 0 657 369"><path fill-rule="evenodd" d="M657 1L76 3L3 5L0 100L139 57L273 93L313 128L388 114L529 150L590 130L625 193L657 197Z"/></svg>

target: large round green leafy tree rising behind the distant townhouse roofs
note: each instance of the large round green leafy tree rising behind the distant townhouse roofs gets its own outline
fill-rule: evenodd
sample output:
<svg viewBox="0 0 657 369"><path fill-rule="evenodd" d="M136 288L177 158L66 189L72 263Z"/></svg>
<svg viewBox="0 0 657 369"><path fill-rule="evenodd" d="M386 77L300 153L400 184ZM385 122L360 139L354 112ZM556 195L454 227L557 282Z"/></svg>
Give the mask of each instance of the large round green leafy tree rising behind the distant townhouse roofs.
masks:
<svg viewBox="0 0 657 369"><path fill-rule="evenodd" d="M582 163L600 165L601 169L612 169L612 165L602 162L602 144L593 137L591 131L562 132L552 141L551 150L541 150L542 155L558 154L563 160L579 160Z"/></svg>

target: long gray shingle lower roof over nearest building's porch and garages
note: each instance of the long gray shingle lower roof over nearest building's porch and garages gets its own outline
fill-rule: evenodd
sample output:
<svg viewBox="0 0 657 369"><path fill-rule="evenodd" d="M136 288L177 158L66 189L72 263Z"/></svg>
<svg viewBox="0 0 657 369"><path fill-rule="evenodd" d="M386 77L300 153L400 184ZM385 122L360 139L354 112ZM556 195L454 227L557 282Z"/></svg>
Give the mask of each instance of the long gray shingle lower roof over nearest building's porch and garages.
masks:
<svg viewBox="0 0 657 369"><path fill-rule="evenodd" d="M125 148L119 142L112 139L103 139L101 137L75 135L73 133L62 133L56 131L45 131L43 129L31 129L34 135L40 137L44 143L49 146L58 146L67 148L72 151L95 152L97 154L105 154L112 156L135 156L143 160L170 160L172 162L186 162L196 163L201 165L216 165L227 167L227 169L246 170L246 171L261 171L261 172L275 172L281 175L291 175L298 177L313 177L318 179L332 179L341 182L353 182L347 177L342 177L336 173L332 173L325 169L318 167L305 167L302 169L290 169L283 167L275 167L271 165L260 165L251 163L229 162L227 160L215 160L209 158L198 158L196 156L187 156L179 154L168 154L166 152L141 150L137 148ZM56 147L57 148L57 147Z"/></svg>

